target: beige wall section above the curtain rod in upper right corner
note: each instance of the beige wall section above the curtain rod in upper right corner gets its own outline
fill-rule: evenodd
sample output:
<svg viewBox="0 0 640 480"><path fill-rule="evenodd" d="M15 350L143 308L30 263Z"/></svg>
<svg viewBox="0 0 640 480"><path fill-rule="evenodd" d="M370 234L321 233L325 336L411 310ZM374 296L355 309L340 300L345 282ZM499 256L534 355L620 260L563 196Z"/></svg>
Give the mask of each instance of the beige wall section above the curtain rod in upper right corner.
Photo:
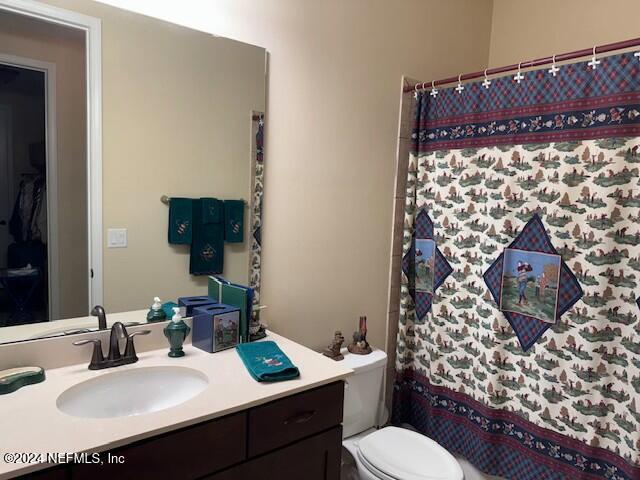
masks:
<svg viewBox="0 0 640 480"><path fill-rule="evenodd" d="M638 0L494 0L489 66L640 36Z"/></svg>

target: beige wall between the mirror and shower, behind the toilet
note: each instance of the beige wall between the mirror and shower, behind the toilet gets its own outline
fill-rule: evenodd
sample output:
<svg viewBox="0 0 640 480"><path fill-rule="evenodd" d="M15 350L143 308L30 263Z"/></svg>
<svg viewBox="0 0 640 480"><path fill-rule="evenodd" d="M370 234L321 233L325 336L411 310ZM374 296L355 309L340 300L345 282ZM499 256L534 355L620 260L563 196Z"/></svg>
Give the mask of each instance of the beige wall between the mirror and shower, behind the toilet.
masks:
<svg viewBox="0 0 640 480"><path fill-rule="evenodd" d="M269 52L263 303L319 348L384 346L400 80L483 67L489 0L107 0Z"/></svg>

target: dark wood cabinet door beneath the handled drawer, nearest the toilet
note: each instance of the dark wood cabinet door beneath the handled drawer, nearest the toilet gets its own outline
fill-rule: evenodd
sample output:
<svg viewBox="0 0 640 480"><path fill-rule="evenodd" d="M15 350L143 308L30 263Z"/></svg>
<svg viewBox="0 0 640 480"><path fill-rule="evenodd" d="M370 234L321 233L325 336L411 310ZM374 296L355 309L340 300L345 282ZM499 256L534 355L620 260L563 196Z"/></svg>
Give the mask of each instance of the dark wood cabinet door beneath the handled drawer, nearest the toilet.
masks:
<svg viewBox="0 0 640 480"><path fill-rule="evenodd" d="M339 426L206 480L340 480L341 447Z"/></svg>

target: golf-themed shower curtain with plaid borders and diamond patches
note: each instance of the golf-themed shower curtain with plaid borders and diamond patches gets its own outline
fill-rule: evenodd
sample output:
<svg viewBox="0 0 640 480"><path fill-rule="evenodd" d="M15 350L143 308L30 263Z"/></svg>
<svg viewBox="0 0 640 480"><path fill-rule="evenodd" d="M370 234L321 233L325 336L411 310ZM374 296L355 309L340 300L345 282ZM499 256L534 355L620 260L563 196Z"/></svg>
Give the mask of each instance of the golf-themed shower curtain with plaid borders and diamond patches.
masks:
<svg viewBox="0 0 640 480"><path fill-rule="evenodd" d="M484 472L640 478L640 57L418 94L393 418Z"/></svg>

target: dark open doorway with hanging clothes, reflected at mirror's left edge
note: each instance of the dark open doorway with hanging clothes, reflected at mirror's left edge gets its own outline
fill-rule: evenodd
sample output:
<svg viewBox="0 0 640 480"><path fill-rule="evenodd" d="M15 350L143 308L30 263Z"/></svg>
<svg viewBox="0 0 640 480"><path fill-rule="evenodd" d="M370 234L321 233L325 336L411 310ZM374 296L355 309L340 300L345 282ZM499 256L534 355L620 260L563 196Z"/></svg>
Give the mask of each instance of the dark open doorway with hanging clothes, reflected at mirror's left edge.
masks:
<svg viewBox="0 0 640 480"><path fill-rule="evenodd" d="M52 268L57 237L49 225L55 185L55 136L47 119L54 105L47 85L53 65L0 55L0 325L48 321L54 314ZM52 111L55 114L55 111ZM55 251L55 250L54 250ZM57 300L57 299L56 299Z"/></svg>

